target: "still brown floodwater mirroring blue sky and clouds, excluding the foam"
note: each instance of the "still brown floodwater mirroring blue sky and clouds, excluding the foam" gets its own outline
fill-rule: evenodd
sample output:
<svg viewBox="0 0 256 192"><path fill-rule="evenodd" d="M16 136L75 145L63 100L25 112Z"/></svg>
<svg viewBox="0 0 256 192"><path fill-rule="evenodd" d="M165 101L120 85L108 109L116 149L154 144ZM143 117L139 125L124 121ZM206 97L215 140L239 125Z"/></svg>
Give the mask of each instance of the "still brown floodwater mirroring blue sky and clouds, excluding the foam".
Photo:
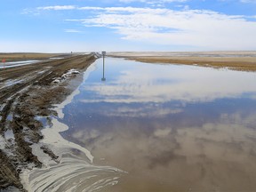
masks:
<svg viewBox="0 0 256 192"><path fill-rule="evenodd" d="M107 59L101 83L100 62L65 135L129 172L111 191L256 190L255 73Z"/></svg>

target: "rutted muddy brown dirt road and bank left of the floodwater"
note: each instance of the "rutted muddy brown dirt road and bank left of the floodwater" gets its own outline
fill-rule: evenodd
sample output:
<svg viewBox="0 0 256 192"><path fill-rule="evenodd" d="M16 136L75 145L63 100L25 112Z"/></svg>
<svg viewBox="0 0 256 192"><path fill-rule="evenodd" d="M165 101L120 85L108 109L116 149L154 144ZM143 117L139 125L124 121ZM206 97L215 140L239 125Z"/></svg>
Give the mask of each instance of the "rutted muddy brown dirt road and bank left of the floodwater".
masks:
<svg viewBox="0 0 256 192"><path fill-rule="evenodd" d="M52 105L76 89L79 84L70 86L69 80L83 76L95 60L94 54L77 55L0 70L0 189L15 186L24 191L21 169L42 165L29 147L43 139L39 119L57 116ZM50 148L42 150L56 158Z"/></svg>

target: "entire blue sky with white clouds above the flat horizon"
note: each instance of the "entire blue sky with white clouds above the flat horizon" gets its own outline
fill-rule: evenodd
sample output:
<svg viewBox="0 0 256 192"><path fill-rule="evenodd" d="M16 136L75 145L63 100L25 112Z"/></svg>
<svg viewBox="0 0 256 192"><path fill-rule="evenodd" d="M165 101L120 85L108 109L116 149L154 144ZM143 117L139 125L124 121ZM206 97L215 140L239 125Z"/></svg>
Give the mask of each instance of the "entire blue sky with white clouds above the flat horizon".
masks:
<svg viewBox="0 0 256 192"><path fill-rule="evenodd" d="M0 0L0 52L255 51L256 0Z"/></svg>

